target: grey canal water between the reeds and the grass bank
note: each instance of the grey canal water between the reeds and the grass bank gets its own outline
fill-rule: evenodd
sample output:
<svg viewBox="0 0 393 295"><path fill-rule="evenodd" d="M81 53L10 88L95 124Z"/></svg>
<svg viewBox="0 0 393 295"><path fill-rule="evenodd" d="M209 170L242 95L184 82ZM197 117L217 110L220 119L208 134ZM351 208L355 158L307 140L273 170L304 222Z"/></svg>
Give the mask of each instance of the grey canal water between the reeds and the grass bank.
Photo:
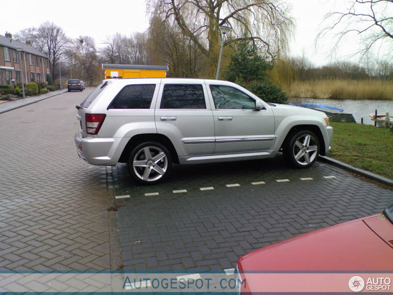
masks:
<svg viewBox="0 0 393 295"><path fill-rule="evenodd" d="M378 111L378 114L385 114L389 112L393 116L393 100L329 100L329 99L313 99L313 98L290 98L290 103L310 102L310 103L323 103L332 107L343 109L345 113L353 114L356 123L361 122L367 125L374 125L371 121L369 114Z"/></svg>

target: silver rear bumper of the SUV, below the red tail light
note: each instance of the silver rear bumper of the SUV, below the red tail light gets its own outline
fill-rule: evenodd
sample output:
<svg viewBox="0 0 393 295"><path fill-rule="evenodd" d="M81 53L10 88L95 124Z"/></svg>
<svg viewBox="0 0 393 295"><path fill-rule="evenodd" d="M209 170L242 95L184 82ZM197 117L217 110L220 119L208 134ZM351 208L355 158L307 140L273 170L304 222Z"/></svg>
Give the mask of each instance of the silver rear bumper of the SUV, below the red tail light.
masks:
<svg viewBox="0 0 393 295"><path fill-rule="evenodd" d="M83 138L79 131L74 141L79 157L89 164L116 166L118 163L121 138Z"/></svg>

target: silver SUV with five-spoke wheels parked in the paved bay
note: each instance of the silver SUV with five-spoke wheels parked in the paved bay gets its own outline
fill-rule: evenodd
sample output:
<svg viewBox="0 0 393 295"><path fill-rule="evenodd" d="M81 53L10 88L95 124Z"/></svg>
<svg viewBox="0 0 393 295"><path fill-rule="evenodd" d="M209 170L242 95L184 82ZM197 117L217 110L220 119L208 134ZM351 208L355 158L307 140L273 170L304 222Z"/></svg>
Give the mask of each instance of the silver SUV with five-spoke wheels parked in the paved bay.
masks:
<svg viewBox="0 0 393 295"><path fill-rule="evenodd" d="M172 163L284 157L298 168L330 150L326 114L266 103L234 83L205 79L108 79L77 105L79 157L127 163L142 184L163 181Z"/></svg>

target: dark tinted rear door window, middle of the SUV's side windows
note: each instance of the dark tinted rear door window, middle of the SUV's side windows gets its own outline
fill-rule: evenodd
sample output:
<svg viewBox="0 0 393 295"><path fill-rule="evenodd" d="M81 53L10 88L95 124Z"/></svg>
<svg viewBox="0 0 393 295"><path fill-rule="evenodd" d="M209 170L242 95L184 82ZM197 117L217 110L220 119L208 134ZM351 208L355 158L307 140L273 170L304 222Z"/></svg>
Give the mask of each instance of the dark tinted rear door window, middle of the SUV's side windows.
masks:
<svg viewBox="0 0 393 295"><path fill-rule="evenodd" d="M165 84L161 109L206 109L202 85Z"/></svg>

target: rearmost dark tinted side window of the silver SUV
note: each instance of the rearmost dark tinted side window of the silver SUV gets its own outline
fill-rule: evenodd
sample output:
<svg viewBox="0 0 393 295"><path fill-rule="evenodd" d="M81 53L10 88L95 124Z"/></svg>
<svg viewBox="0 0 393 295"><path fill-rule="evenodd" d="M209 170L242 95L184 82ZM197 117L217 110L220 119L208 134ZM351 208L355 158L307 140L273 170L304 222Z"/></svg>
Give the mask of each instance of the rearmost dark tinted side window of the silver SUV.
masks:
<svg viewBox="0 0 393 295"><path fill-rule="evenodd" d="M150 109L155 84L127 85L115 97L108 109Z"/></svg>

